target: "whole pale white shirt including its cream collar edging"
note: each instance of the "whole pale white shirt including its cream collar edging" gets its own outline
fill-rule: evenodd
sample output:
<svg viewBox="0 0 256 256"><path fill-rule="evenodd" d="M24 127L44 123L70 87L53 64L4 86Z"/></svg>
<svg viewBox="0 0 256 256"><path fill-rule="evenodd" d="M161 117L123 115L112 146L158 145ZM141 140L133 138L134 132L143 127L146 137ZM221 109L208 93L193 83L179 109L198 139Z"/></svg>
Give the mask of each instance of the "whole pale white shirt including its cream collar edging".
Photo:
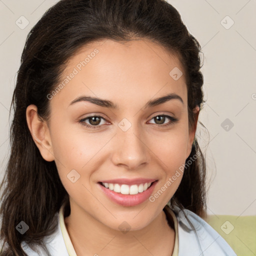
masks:
<svg viewBox="0 0 256 256"><path fill-rule="evenodd" d="M43 238L51 256L77 256L64 223L64 205L56 213L55 231ZM190 210L184 210L188 220L178 208L166 206L166 218L174 220L175 242L171 256L237 256L227 242L202 218ZM190 222L190 223L189 223ZM194 226L195 231L192 228ZM46 256L40 247L21 242L28 256Z"/></svg>

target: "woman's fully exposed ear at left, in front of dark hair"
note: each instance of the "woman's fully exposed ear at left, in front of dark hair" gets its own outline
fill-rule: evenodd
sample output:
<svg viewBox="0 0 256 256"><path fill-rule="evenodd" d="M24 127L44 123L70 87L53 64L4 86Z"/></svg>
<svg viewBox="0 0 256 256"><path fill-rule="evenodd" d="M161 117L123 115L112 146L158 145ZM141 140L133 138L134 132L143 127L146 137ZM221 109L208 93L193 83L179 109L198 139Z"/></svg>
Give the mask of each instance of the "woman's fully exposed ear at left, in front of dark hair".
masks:
<svg viewBox="0 0 256 256"><path fill-rule="evenodd" d="M46 122L38 116L36 105L29 105L26 108L26 122L42 158L46 161L53 161L54 155L49 128Z"/></svg>

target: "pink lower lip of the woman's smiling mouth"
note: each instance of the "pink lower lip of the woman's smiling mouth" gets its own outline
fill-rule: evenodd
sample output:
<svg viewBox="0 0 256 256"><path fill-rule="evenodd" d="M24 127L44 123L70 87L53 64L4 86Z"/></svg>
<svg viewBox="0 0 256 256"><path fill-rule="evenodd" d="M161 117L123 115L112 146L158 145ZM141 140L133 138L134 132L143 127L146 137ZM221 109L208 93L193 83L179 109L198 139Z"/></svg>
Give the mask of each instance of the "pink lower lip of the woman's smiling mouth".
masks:
<svg viewBox="0 0 256 256"><path fill-rule="evenodd" d="M119 205L123 206L135 206L137 204L140 204L144 202L146 199L149 198L150 194L152 193L154 186L156 184L157 180L152 182L149 188L147 188L145 191L137 194L121 194L114 192L113 190L110 190L100 183L98 183L100 189L105 193L105 195L111 199L112 201L118 203Z"/></svg>

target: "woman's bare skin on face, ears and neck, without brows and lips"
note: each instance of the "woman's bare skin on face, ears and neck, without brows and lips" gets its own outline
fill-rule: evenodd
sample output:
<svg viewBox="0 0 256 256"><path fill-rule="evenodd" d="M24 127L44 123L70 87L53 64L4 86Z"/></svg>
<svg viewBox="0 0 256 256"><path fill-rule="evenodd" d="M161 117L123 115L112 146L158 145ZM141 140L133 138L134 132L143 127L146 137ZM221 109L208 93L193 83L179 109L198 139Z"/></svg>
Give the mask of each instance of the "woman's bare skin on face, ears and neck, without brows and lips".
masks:
<svg viewBox="0 0 256 256"><path fill-rule="evenodd" d="M99 52L50 100L48 123L38 118L35 105L27 107L28 127L42 157L56 162L69 194L71 211L65 225L78 256L169 256L175 232L162 209L177 189L182 173L154 202L145 200L130 207L108 199L97 182L119 177L154 178L158 179L154 194L185 163L199 109L195 109L196 122L189 130L182 65L177 57L145 39L128 43L107 39L83 46L69 59L62 78L95 48ZM174 67L183 72L178 80L169 75ZM148 100L168 93L178 94L183 104L171 99L143 109ZM80 95L111 100L119 108L88 101L69 105ZM99 119L95 129L82 126L79 120L90 114L105 120ZM157 122L153 118L162 114L178 121L166 117ZM118 126L123 118L131 124L126 131ZM91 119L84 122L93 126ZM166 123L171 124L161 126ZM80 174L75 183L66 177L72 169ZM123 221L130 226L126 233L118 228Z"/></svg>

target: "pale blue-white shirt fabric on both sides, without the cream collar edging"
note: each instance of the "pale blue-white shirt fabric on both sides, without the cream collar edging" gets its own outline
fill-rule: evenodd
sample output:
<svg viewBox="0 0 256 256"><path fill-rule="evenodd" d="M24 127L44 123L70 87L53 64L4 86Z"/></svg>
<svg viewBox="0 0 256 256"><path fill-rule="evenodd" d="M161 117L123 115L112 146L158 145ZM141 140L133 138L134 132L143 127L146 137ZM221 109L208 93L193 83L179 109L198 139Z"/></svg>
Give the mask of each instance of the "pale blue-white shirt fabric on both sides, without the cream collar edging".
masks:
<svg viewBox="0 0 256 256"><path fill-rule="evenodd" d="M170 210L169 207L167 209ZM181 210L172 210L178 221L178 256L237 256L227 242L195 213L185 209L187 220ZM51 256L69 256L61 233L59 217L56 217L58 226L55 232L49 237L44 237L44 240ZM21 246L28 256L47 255L41 248L31 249L24 242Z"/></svg>

